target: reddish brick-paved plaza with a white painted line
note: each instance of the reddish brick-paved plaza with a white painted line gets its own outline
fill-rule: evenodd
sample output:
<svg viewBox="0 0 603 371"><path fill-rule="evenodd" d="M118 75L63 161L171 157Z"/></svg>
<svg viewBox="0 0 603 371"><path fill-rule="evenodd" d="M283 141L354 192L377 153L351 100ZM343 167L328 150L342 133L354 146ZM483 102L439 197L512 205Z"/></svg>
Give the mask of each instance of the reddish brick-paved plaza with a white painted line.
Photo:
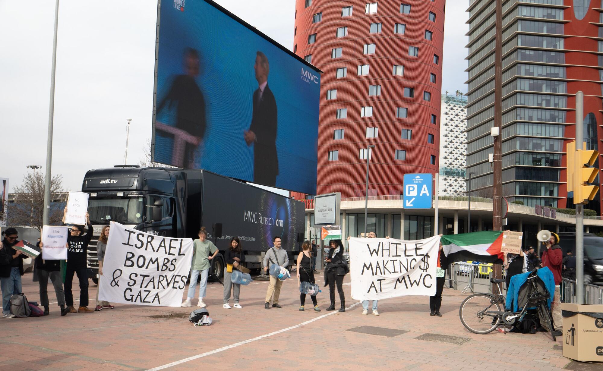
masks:
<svg viewBox="0 0 603 371"><path fill-rule="evenodd" d="M321 284L322 276L318 277ZM31 273L23 281L28 299L39 301L37 282L32 282ZM188 314L196 307L124 304L116 304L113 310L65 317L60 316L56 304L51 304L51 314L46 317L1 319L0 371L231 368L502 371L601 367L564 358L561 339L554 343L547 333L468 332L458 317L459 304L466 295L450 289L444 290L441 318L429 316L429 298L421 296L382 301L381 315L376 317L362 316L362 306L352 299L348 299L351 308L346 313L324 311L328 288L318 296L320 313L315 313L308 304L309 310L300 312L295 279L283 282L280 298L283 308L265 310L267 285L268 282L256 281L242 287L243 308L224 309L222 286L210 284L206 303L213 325L209 327L197 328L188 322ZM349 284L344 288L349 298ZM96 286L90 281L90 298L95 298L95 294ZM311 303L309 298L306 300ZM426 340L421 340L421 335Z"/></svg>

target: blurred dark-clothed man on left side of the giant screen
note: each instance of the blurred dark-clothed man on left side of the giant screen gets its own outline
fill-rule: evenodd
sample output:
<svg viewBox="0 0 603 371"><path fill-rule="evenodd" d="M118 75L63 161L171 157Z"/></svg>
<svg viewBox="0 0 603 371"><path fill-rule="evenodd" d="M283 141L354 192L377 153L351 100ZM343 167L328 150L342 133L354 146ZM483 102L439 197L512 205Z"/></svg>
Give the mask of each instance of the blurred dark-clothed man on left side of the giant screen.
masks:
<svg viewBox="0 0 603 371"><path fill-rule="evenodd" d="M174 137L172 148L172 165L195 168L195 151L203 142L206 130L205 100L195 78L199 75L200 58L195 49L186 48L183 55L185 75L178 75L169 89L168 94L157 105L157 112L166 104L168 108L175 105L175 125L166 127L157 123L159 131Z"/></svg>

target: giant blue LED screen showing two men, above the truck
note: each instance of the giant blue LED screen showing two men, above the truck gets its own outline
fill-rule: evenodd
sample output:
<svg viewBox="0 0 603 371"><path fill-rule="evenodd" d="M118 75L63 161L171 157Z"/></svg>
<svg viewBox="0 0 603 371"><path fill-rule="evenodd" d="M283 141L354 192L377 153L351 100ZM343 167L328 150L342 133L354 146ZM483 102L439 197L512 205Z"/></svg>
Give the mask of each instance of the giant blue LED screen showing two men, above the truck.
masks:
<svg viewBox="0 0 603 371"><path fill-rule="evenodd" d="M154 160L314 195L320 71L212 1L159 14Z"/></svg>

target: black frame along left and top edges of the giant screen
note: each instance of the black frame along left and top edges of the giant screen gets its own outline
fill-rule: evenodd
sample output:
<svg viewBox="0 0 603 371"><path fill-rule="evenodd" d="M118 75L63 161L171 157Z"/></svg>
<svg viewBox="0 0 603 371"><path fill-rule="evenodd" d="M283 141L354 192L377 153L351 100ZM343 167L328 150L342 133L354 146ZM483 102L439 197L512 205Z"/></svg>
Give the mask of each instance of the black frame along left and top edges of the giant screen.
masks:
<svg viewBox="0 0 603 371"><path fill-rule="evenodd" d="M235 14L231 13L229 10L227 10L223 6L219 5L215 1L212 1L212 0L201 0L201 1L206 2L207 4L211 5L212 7L221 11L222 13L226 14L227 16L229 16L236 22L240 23L242 26L246 27L248 30L253 31L258 36L265 39L267 42L273 44L277 48L286 52L286 54L289 54L291 57L294 57L295 59L297 59L297 61L300 61L301 63L305 64L306 67L309 67L312 70L315 70L315 72L317 72L317 73L323 73L323 71L318 69L316 66L312 65L311 63L308 63L308 61L306 61L304 58L301 58L299 55L297 55L294 52L290 51L289 49L285 48L285 46L280 45L274 39L271 39L266 34L257 30L257 28L255 28L252 25L250 25L249 23L245 22L244 20L242 20ZM151 123L151 163L155 162L155 123L156 123L156 119L157 119L157 67L159 66L159 31L160 31L161 3L162 3L162 0L157 0L157 21L156 21L156 30L155 30L155 70L154 70L154 77L153 77L153 122Z"/></svg>

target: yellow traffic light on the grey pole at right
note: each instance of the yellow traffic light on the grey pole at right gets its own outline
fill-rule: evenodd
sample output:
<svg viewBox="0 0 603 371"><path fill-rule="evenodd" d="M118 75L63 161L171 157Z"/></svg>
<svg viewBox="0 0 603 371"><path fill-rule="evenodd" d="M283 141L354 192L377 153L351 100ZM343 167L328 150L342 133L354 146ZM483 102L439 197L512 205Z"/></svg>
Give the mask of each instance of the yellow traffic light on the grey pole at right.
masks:
<svg viewBox="0 0 603 371"><path fill-rule="evenodd" d="M568 145L569 147L569 145ZM573 152L573 203L577 204L588 204L599 190L599 186L589 186L585 183L591 183L595 180L599 169L592 166L597 157L599 156L598 151L584 149L578 149ZM569 165L569 163L568 163ZM569 167L569 166L568 166Z"/></svg>

